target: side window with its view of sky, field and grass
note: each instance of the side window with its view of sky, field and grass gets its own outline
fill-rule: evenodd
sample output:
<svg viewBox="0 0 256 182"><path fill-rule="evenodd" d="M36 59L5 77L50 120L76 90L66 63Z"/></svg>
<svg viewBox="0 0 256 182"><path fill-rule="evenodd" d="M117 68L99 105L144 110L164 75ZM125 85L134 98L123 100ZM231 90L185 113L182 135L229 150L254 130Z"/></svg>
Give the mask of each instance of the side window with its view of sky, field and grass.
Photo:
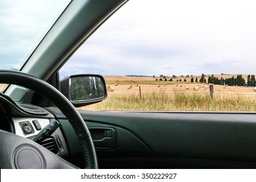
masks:
<svg viewBox="0 0 256 182"><path fill-rule="evenodd" d="M253 1L129 1L60 70L104 75L90 110L255 111Z"/></svg>

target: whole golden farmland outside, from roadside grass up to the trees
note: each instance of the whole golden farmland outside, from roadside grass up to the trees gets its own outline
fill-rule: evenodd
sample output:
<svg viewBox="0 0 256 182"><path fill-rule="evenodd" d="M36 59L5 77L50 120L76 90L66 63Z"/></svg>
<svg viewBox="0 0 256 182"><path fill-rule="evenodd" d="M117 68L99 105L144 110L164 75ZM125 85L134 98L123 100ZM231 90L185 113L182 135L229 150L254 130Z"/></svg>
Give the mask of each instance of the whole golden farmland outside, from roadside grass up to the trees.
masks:
<svg viewBox="0 0 256 182"><path fill-rule="evenodd" d="M216 75L214 75L216 76ZM220 75L224 78L233 75ZM247 75L243 75L247 78ZM193 76L195 79L201 76ZM236 77L236 75L235 75ZM256 111L252 87L209 85L177 81L156 81L159 77L105 76L107 99L81 107L85 110L167 110L167 111ZM184 79L184 77L182 77ZM167 78L169 80L170 78ZM130 86L132 85L132 86ZM128 89L128 87L130 87Z"/></svg>

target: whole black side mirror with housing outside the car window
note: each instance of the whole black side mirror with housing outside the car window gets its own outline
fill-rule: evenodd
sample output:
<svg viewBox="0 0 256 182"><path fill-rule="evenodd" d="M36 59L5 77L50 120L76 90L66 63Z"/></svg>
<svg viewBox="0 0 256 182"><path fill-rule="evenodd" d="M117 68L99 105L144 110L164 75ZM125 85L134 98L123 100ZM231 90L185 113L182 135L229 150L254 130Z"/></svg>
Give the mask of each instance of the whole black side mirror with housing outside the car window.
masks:
<svg viewBox="0 0 256 182"><path fill-rule="evenodd" d="M71 75L61 79L61 93L74 105L82 107L107 98L107 88L101 75Z"/></svg>

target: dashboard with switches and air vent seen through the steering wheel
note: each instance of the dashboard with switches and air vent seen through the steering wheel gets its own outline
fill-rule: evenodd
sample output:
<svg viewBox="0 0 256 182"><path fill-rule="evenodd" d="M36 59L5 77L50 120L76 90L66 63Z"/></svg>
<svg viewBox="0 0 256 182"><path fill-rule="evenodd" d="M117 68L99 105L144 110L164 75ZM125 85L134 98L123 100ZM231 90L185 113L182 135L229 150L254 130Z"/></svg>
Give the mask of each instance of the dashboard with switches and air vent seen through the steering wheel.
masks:
<svg viewBox="0 0 256 182"><path fill-rule="evenodd" d="M0 102L0 129L30 140L33 140L55 118L42 107L28 104L18 105L3 94L0 96ZM64 159L68 157L68 148L60 128L40 142L40 145Z"/></svg>

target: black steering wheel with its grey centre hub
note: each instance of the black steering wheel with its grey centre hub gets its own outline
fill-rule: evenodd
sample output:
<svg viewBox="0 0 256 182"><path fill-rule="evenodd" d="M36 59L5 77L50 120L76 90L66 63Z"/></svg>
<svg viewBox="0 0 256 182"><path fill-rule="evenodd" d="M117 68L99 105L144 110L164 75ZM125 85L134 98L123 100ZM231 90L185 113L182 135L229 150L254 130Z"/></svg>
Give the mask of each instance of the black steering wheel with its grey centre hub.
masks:
<svg viewBox="0 0 256 182"><path fill-rule="evenodd" d="M76 108L50 84L14 70L0 70L0 83L20 85L52 101L66 116L83 150L85 168L98 168L96 151L87 125ZM0 168L78 168L36 142L0 130Z"/></svg>

